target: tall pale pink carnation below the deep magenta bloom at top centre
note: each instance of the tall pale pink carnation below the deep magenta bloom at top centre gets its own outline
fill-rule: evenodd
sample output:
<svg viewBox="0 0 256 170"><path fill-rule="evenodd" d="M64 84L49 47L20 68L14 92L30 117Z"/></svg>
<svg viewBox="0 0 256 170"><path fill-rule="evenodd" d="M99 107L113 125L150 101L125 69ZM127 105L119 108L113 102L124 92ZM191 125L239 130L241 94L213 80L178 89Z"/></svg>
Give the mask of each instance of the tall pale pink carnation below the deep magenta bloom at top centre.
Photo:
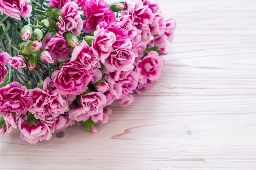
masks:
<svg viewBox="0 0 256 170"><path fill-rule="evenodd" d="M106 22L102 22L94 32L94 39L92 41L93 54L101 63L105 63L105 59L108 58L117 37L113 32L106 32Z"/></svg>

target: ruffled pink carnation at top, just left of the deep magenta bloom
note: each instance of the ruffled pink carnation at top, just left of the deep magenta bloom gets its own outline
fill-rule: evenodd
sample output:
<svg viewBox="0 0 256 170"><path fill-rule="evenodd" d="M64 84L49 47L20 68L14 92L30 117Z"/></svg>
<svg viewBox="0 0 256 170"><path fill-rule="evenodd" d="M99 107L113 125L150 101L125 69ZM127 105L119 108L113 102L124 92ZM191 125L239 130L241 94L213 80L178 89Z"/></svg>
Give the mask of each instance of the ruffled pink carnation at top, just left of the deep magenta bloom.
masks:
<svg viewBox="0 0 256 170"><path fill-rule="evenodd" d="M76 36L80 35L83 22L78 8L78 5L74 1L69 1L64 4L61 8L61 16L58 17L61 22L57 22L56 24L56 27L59 28L59 33L63 34L69 31Z"/></svg>

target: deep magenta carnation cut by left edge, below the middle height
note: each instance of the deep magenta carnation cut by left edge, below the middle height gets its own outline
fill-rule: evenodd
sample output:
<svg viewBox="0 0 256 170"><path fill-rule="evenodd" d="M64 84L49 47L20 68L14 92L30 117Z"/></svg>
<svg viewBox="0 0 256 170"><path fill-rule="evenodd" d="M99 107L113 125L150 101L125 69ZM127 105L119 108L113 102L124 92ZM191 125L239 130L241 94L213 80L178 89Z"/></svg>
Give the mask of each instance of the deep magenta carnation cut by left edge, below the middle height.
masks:
<svg viewBox="0 0 256 170"><path fill-rule="evenodd" d="M27 96L27 87L21 87L18 82L13 81L9 87L0 88L0 113L25 113L31 104L32 99Z"/></svg>

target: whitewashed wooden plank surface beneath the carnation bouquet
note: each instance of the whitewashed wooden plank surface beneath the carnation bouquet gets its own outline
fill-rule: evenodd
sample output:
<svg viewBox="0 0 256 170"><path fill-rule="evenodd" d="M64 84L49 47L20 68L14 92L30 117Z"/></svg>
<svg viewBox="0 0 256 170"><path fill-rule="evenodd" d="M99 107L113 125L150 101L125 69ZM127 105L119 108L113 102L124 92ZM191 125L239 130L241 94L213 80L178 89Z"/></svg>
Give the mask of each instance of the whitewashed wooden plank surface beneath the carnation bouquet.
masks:
<svg viewBox="0 0 256 170"><path fill-rule="evenodd" d="M177 30L153 88L97 134L74 126L37 144L5 134L0 169L256 170L256 1L155 2Z"/></svg>

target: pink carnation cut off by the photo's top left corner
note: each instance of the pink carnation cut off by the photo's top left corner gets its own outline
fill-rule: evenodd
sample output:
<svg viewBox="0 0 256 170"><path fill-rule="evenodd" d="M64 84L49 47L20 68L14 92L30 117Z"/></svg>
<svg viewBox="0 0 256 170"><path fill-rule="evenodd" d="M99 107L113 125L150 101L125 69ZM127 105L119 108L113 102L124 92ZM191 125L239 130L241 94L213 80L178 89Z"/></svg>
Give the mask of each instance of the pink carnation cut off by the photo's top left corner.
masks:
<svg viewBox="0 0 256 170"><path fill-rule="evenodd" d="M29 17L32 11L32 6L30 5L30 0L0 0L0 11L3 15L6 14L17 20L20 20L20 15L22 17Z"/></svg>

